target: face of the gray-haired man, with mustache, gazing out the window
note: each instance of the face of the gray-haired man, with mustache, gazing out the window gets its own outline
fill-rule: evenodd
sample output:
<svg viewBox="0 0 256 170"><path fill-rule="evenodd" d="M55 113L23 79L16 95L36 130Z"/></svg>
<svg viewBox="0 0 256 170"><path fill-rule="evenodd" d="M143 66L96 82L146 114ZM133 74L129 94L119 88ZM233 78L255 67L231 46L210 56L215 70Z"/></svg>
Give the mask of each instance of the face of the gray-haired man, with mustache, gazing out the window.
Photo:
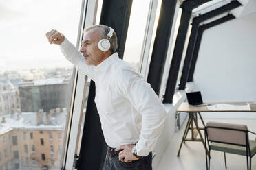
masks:
<svg viewBox="0 0 256 170"><path fill-rule="evenodd" d="M80 52L83 53L87 65L97 66L103 60L105 54L98 49L98 41L100 39L100 28L94 28L85 32Z"/></svg>

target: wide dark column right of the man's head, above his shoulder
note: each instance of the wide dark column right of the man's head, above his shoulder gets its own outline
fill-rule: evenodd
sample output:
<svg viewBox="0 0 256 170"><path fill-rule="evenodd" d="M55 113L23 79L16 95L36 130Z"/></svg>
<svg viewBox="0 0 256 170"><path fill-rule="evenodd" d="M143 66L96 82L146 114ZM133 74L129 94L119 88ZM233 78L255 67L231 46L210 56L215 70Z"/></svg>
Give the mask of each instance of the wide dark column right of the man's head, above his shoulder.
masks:
<svg viewBox="0 0 256 170"><path fill-rule="evenodd" d="M147 82L159 95L177 0L162 0Z"/></svg>

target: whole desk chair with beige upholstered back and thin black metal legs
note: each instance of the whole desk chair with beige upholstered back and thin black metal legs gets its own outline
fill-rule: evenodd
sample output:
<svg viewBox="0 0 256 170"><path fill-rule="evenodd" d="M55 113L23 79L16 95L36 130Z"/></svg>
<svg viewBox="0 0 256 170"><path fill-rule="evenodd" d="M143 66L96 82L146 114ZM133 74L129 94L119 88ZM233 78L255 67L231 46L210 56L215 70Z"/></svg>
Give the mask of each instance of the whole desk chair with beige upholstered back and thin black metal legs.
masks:
<svg viewBox="0 0 256 170"><path fill-rule="evenodd" d="M208 122L204 127L206 153L206 169L210 170L211 150L224 152L226 167L226 153L246 156L247 169L251 169L251 158L256 154L256 141L249 140L246 125L231 123ZM254 132L250 132L255 134ZM248 161L250 158L250 162Z"/></svg>

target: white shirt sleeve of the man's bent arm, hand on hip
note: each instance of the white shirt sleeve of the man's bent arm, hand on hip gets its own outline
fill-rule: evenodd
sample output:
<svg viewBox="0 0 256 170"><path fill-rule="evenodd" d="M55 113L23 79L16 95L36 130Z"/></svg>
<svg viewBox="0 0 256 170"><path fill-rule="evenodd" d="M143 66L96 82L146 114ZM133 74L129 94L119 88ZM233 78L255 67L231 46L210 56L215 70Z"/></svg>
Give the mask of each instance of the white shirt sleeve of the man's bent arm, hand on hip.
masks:
<svg viewBox="0 0 256 170"><path fill-rule="evenodd" d="M120 73L118 90L142 114L142 129L136 143L137 154L147 156L160 137L167 114L164 105L142 75L132 69Z"/></svg>

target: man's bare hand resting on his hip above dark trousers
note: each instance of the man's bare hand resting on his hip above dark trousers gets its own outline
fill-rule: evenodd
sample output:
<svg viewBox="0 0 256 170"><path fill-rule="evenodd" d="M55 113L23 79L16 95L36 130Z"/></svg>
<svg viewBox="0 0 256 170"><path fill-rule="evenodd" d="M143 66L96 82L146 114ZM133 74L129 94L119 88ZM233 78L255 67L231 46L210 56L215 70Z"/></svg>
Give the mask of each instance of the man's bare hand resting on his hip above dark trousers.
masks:
<svg viewBox="0 0 256 170"><path fill-rule="evenodd" d="M121 145L120 147L116 148L116 151L120 151L119 153L119 160L122 162L131 162L133 160L138 160L136 156L131 153L131 149L134 147L134 144L131 145Z"/></svg>

